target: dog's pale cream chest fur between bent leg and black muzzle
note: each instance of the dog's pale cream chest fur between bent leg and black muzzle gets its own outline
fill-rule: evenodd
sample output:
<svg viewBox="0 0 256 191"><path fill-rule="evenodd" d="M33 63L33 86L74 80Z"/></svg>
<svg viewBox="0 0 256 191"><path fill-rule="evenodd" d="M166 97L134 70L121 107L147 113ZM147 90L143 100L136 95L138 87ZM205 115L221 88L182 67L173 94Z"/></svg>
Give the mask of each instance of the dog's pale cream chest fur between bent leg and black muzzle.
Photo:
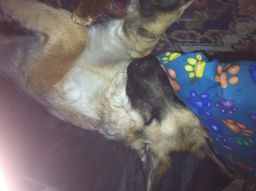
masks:
<svg viewBox="0 0 256 191"><path fill-rule="evenodd" d="M85 63L86 61L80 59L66 78L56 84L55 90L47 95L47 100L54 98L51 99L51 105L56 111L51 113L58 118L58 114L62 114L67 121L76 118L71 121L73 124L84 128L89 126L92 130L104 125L113 126L112 122L115 120L108 117L116 118L124 111L127 116L123 117L131 120L132 114L129 113L131 109L125 90L126 68L130 61L102 66ZM54 101L56 106L53 105ZM120 125L117 124L117 127Z"/></svg>

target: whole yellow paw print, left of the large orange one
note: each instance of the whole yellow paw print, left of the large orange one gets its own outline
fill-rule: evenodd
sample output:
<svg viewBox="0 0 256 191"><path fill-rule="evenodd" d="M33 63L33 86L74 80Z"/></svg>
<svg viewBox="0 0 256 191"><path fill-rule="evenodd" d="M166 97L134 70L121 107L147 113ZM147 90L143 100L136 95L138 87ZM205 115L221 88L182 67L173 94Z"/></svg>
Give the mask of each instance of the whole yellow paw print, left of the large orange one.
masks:
<svg viewBox="0 0 256 191"><path fill-rule="evenodd" d="M202 56L200 54L196 55L196 59L188 58L188 63L191 65L194 65L194 67L191 65L185 66L185 70L191 71L191 73L189 73L190 78L193 78L194 76L196 76L198 78L203 77L203 70L204 70L206 63L205 63L205 61L201 61Z"/></svg>

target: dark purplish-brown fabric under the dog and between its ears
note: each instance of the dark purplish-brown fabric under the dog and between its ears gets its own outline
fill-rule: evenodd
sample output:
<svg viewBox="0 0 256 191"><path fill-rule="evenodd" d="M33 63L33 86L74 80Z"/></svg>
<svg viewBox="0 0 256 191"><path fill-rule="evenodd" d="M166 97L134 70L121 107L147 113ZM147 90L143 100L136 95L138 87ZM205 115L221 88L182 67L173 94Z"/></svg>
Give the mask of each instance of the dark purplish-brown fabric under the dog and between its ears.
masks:
<svg viewBox="0 0 256 191"><path fill-rule="evenodd" d="M24 186L18 175L59 191L145 190L135 152L95 131L58 120L1 75L0 90L0 166L9 191L40 190ZM172 166L159 191L216 191L218 180L224 180L211 160L185 152L172 155Z"/></svg>

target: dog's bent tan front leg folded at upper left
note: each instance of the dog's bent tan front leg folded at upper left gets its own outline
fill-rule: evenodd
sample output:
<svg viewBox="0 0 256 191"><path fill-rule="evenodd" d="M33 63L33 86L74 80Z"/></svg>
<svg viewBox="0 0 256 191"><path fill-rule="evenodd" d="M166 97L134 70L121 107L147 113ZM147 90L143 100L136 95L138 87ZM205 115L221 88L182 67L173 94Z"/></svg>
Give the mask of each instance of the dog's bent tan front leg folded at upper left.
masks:
<svg viewBox="0 0 256 191"><path fill-rule="evenodd" d="M3 10L11 18L17 18L22 25L46 35L45 46L40 50L40 55L33 55L21 68L21 79L31 94L48 90L75 64L88 43L87 29L72 22L71 13L63 9L26 0L1 3ZM15 10L15 14L11 14L12 10ZM51 25L44 25L47 20L53 21Z"/></svg>

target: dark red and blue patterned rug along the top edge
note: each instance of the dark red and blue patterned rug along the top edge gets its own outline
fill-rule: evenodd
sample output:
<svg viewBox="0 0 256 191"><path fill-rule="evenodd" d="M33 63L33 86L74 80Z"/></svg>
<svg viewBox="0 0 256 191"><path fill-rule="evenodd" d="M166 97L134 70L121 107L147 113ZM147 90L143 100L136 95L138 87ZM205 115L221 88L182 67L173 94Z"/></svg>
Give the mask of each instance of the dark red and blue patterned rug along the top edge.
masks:
<svg viewBox="0 0 256 191"><path fill-rule="evenodd" d="M43 0L73 11L77 0ZM125 16L127 0L109 0L96 23ZM160 38L154 49L209 54L218 51L256 52L256 0L197 0Z"/></svg>

